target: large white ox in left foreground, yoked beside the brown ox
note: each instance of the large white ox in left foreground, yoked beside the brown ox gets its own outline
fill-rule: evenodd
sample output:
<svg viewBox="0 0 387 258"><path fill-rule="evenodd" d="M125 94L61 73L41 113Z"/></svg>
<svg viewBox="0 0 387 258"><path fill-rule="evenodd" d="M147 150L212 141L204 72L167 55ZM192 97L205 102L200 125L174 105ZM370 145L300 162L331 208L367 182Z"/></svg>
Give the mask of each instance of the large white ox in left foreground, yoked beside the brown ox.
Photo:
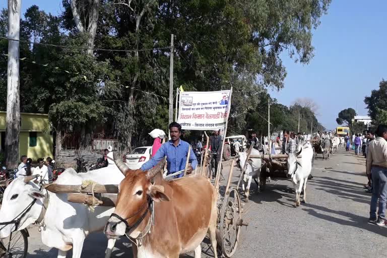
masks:
<svg viewBox="0 0 387 258"><path fill-rule="evenodd" d="M79 174L72 168L66 169L55 183L72 185L91 180L98 184L119 184L123 178L117 166L109 164L105 168ZM37 184L32 181L26 183L24 179L18 177L6 188L0 209L0 222L20 218L26 207L32 204L34 199L36 201L21 218L18 228L15 228L15 224L0 228L0 238L8 237L12 231L24 229L35 223L41 215L44 199L48 194L48 207L40 227L42 242L49 247L57 248L58 258L65 258L71 248L73 258L80 258L86 236L104 229L114 207L97 206L92 212L86 205L68 202L67 193L39 190ZM108 240L106 257L110 256L114 243L114 239Z"/></svg>

